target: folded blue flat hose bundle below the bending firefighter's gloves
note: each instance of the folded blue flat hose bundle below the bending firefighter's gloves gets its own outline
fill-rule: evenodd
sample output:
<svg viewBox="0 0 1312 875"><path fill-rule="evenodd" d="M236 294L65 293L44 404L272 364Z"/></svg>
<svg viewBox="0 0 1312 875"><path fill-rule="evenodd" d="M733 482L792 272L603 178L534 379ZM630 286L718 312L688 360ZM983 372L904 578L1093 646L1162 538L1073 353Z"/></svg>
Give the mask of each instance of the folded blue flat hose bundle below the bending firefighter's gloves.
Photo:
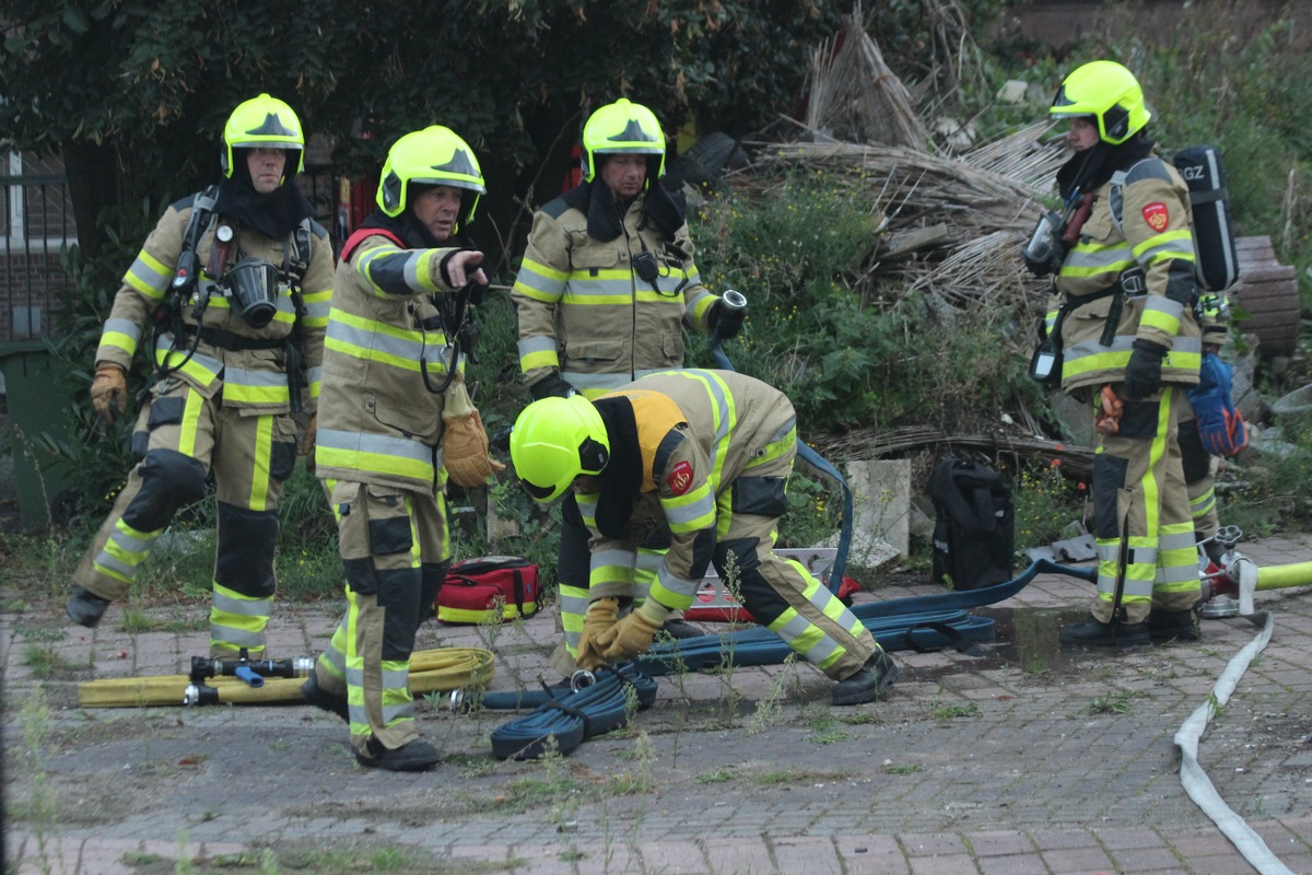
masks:
<svg viewBox="0 0 1312 875"><path fill-rule="evenodd" d="M630 687L638 695L639 710L656 701L656 681L638 674L631 664L601 669L596 683L577 691L562 690L558 695L559 687L550 689L533 714L492 731L492 754L499 760L538 760L555 739L556 752L564 756L628 722Z"/></svg>

